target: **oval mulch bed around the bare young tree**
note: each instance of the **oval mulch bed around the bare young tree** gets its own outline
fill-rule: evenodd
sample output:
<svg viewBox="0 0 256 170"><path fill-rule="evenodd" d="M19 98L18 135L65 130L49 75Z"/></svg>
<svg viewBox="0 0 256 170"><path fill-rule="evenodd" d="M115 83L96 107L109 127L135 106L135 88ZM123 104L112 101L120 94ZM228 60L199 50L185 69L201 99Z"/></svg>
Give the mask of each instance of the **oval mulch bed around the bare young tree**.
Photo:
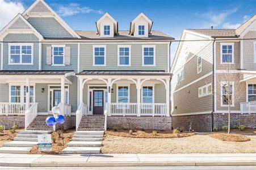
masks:
<svg viewBox="0 0 256 170"><path fill-rule="evenodd" d="M209 137L220 139L221 141L228 142L246 142L250 141L249 137L240 134L227 134L227 133L213 133L209 134Z"/></svg>

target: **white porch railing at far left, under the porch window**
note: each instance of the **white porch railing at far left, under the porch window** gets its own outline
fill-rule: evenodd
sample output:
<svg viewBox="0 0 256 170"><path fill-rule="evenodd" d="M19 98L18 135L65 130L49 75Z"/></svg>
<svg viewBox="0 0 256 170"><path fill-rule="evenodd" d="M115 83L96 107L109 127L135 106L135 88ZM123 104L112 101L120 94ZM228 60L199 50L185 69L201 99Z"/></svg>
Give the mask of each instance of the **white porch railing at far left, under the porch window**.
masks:
<svg viewBox="0 0 256 170"><path fill-rule="evenodd" d="M30 107L34 103L30 103ZM25 114L26 103L0 103L0 114Z"/></svg>

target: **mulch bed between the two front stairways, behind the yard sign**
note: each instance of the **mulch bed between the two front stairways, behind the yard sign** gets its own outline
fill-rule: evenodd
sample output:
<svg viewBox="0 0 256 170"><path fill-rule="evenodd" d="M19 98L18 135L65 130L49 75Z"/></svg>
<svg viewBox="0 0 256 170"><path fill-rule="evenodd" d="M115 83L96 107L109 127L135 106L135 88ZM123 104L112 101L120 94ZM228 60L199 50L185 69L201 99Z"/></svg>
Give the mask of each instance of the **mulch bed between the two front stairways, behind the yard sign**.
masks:
<svg viewBox="0 0 256 170"><path fill-rule="evenodd" d="M61 151L67 146L66 144L69 143L73 137L75 129L68 129L63 132L64 135L64 145L62 143L61 137L58 135L58 130L52 133L52 151L51 152L40 152L38 150L38 146L32 147L30 154L44 154L44 155L54 155L54 154L61 154ZM53 143L53 138L55 138L55 143Z"/></svg>

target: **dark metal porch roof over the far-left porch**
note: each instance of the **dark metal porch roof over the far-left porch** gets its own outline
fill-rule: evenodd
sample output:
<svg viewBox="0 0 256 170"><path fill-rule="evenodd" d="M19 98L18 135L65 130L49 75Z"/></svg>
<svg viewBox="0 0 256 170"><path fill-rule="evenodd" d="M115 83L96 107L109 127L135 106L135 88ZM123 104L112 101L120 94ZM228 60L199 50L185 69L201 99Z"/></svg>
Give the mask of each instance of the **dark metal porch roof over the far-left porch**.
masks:
<svg viewBox="0 0 256 170"><path fill-rule="evenodd" d="M65 75L73 71L74 70L0 70L0 75Z"/></svg>

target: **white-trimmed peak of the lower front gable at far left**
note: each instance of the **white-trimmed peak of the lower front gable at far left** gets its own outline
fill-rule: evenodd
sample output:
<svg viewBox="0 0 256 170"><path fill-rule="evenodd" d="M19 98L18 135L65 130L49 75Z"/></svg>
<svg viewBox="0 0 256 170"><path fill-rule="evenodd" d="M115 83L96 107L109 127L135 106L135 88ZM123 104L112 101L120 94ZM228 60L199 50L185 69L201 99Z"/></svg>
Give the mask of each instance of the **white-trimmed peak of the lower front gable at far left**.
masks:
<svg viewBox="0 0 256 170"><path fill-rule="evenodd" d="M2 29L0 36L7 29L32 29L32 31L39 39L44 39L44 37L38 31L36 31L36 29L33 28L33 26L21 14L16 15L15 18L12 19L11 22Z"/></svg>

